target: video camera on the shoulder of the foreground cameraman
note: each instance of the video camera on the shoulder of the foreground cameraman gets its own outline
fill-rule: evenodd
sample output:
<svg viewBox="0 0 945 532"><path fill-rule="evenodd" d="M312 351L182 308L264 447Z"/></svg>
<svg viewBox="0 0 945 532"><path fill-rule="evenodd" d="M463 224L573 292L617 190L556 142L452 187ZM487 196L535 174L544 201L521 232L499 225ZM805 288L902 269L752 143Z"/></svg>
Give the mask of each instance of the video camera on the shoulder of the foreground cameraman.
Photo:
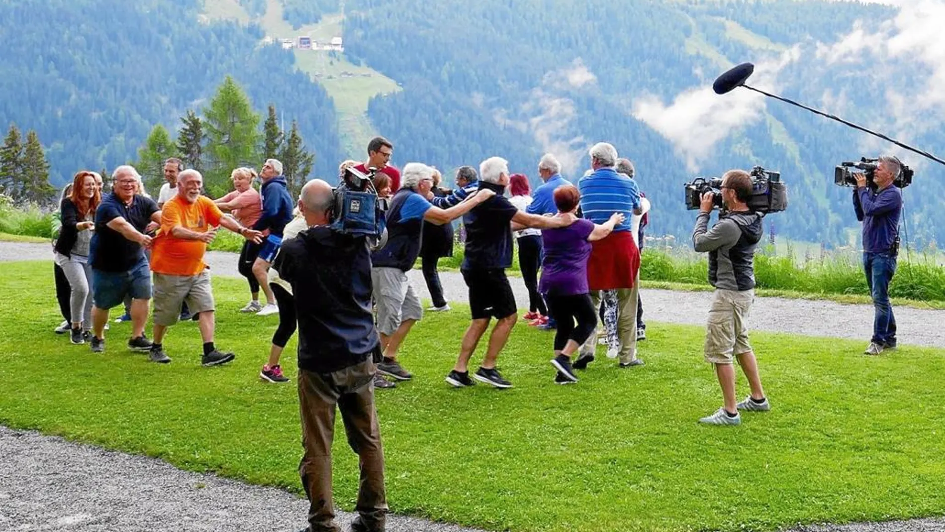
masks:
<svg viewBox="0 0 945 532"><path fill-rule="evenodd" d="M377 196L375 173L376 168L369 168L367 174L353 167L342 170L338 186L332 190L329 227L343 234L367 236L370 248L380 249L387 242L387 199Z"/></svg>

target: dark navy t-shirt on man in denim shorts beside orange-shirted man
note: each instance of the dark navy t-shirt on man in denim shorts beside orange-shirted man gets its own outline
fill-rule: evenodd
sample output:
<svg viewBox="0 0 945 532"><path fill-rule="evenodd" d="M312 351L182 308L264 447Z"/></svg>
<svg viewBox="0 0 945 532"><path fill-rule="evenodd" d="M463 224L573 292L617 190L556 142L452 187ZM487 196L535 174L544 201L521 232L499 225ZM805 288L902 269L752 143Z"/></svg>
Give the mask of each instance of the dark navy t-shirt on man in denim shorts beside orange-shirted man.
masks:
<svg viewBox="0 0 945 532"><path fill-rule="evenodd" d="M160 211L153 199L135 196L130 205L126 205L114 193L102 197L102 202L95 210L95 234L89 252L92 267L102 271L128 271L145 258L145 249L141 244L125 238L122 233L108 226L113 219L122 217L138 232L145 232L151 222L151 215Z"/></svg>

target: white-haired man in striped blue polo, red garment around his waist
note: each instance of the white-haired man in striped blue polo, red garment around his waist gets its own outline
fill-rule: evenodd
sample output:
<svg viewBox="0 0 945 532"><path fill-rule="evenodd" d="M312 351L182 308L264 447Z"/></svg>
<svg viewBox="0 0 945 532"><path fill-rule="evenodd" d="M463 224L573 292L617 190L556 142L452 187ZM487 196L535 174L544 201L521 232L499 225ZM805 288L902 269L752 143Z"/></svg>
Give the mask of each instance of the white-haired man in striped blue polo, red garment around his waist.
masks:
<svg viewBox="0 0 945 532"><path fill-rule="evenodd" d="M601 290L617 292L617 335L620 368L643 366L637 357L637 294L640 286L640 249L633 238L631 219L642 215L640 191L634 180L615 170L617 149L607 143L591 147L591 175L577 181L581 212L595 224L621 213L624 221L607 238L593 242L588 260L588 284L594 308L600 307ZM593 362L597 330L581 346L573 367L586 369Z"/></svg>

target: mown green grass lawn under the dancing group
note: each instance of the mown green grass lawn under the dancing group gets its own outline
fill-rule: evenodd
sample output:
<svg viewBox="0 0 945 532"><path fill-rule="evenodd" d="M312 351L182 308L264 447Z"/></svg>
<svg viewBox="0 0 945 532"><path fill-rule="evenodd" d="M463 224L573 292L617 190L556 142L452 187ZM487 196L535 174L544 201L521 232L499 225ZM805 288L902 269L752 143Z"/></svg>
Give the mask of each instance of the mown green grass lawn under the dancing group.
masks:
<svg viewBox="0 0 945 532"><path fill-rule="evenodd" d="M277 317L236 312L244 283L215 280L217 344L237 352L232 364L201 368L197 327L185 323L164 342L174 362L159 366L126 351L127 324L112 325L104 354L53 335L48 266L0 264L0 423L301 492L295 386L257 378ZM945 514L942 350L868 358L862 342L755 334L774 410L705 427L696 420L720 398L698 327L651 324L644 368L601 356L576 386L555 386L552 336L519 326L500 358L515 387L457 390L443 382L468 324L456 306L407 338L415 380L379 392L394 512L562 532ZM284 362L294 377L294 357ZM351 509L357 462L337 430L336 501Z"/></svg>

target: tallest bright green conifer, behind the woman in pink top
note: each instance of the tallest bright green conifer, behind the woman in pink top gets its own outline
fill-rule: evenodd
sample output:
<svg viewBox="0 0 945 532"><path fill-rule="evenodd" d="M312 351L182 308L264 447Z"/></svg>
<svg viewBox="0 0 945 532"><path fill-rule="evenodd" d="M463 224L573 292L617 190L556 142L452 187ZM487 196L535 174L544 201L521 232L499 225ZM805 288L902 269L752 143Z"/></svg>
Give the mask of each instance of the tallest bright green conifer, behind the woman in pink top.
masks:
<svg viewBox="0 0 945 532"><path fill-rule="evenodd" d="M227 77L203 110L207 130L207 171L204 182L211 196L230 190L230 173L238 166L259 163L259 115L249 97Z"/></svg>

